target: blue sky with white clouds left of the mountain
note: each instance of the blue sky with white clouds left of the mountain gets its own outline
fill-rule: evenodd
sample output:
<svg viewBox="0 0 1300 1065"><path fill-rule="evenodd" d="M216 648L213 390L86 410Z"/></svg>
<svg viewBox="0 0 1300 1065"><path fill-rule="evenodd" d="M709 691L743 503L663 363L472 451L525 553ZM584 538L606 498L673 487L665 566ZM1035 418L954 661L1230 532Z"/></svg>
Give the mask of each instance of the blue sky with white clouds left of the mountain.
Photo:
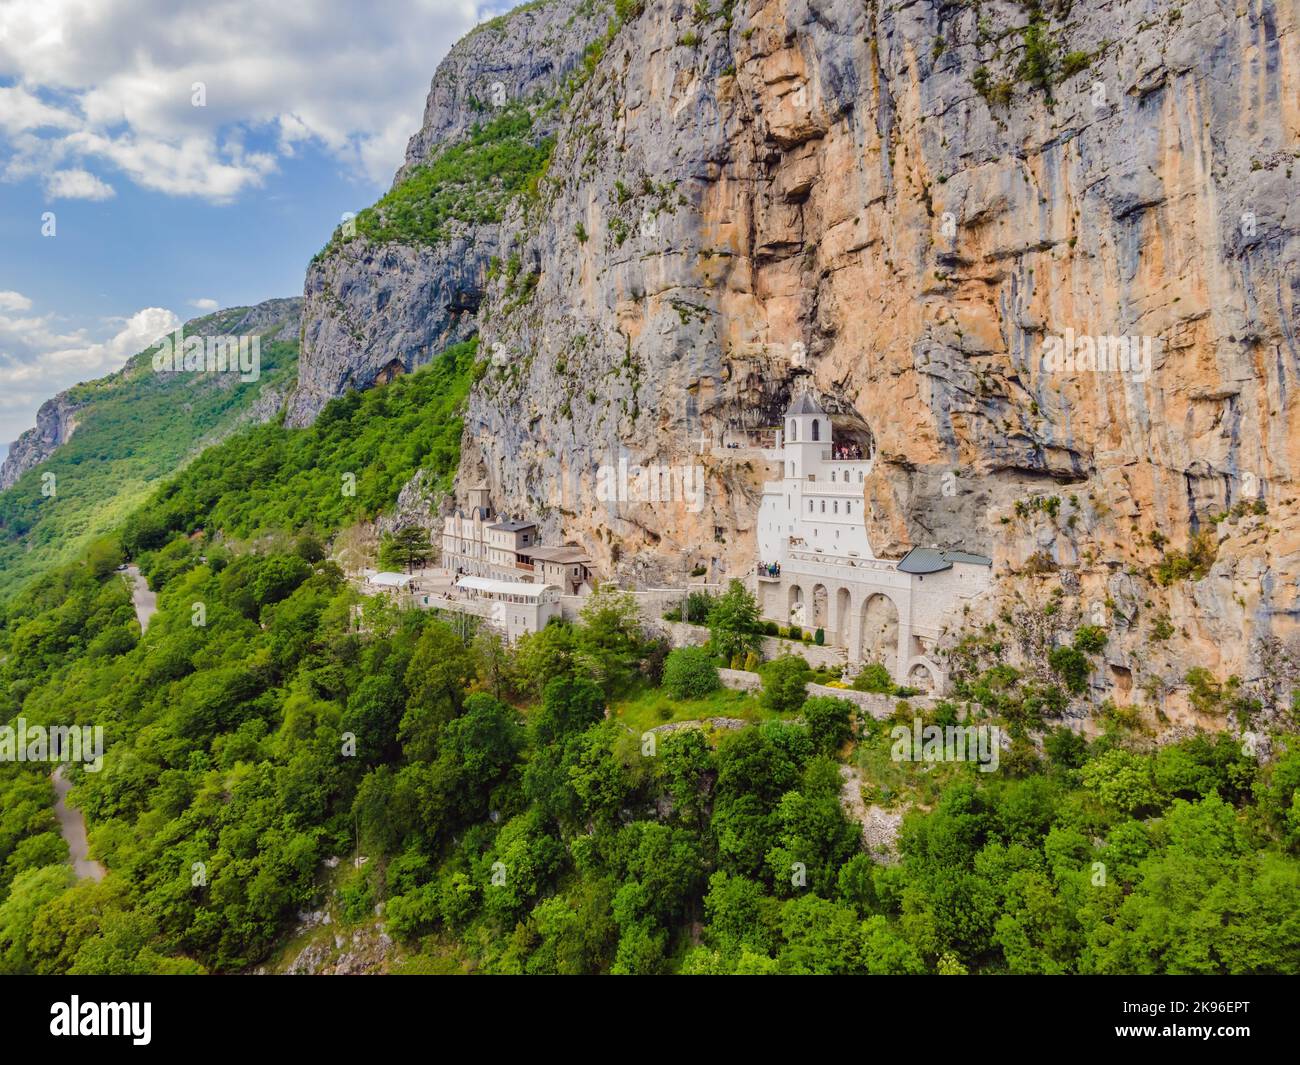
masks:
<svg viewBox="0 0 1300 1065"><path fill-rule="evenodd" d="M0 0L0 455L177 321L299 295L447 48L510 7Z"/></svg>

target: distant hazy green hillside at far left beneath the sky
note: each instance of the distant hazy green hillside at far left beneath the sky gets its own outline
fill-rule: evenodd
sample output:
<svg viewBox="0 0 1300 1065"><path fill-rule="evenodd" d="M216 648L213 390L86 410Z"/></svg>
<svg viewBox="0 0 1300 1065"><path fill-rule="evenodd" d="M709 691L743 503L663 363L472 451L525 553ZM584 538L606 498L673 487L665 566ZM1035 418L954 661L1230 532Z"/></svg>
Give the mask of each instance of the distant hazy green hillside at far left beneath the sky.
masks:
<svg viewBox="0 0 1300 1065"><path fill-rule="evenodd" d="M196 319L186 324L186 334L244 332L247 312L238 307ZM120 372L65 393L82 407L77 432L0 493L0 599L44 568L77 558L161 480L246 421L268 389L287 390L298 372L296 324L290 325L285 339L263 339L257 381L156 373L151 347ZM266 328L268 337L280 328ZM55 475L52 495L43 493L47 473Z"/></svg>

